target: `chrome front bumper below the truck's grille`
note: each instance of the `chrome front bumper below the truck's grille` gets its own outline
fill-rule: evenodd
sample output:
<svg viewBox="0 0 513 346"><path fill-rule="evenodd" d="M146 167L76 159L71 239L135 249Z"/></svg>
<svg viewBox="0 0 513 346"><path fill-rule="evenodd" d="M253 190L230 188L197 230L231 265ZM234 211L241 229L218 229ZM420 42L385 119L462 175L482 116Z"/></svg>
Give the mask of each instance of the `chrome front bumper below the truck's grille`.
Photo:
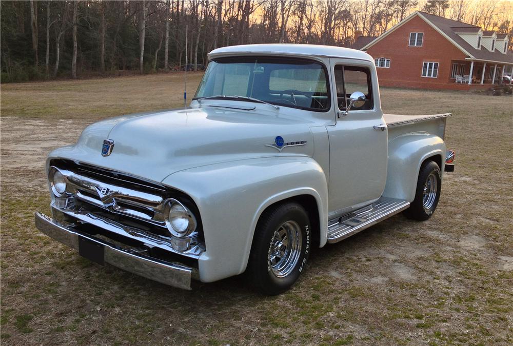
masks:
<svg viewBox="0 0 513 346"><path fill-rule="evenodd" d="M79 250L78 243L80 239L87 239L89 242L95 243L100 247L103 246L105 263L109 263L114 267L168 284L169 286L185 290L191 289L192 268L120 248L103 239L82 234L80 231L73 230L72 228L63 227L42 213L35 213L35 226L50 238L76 250Z"/></svg>

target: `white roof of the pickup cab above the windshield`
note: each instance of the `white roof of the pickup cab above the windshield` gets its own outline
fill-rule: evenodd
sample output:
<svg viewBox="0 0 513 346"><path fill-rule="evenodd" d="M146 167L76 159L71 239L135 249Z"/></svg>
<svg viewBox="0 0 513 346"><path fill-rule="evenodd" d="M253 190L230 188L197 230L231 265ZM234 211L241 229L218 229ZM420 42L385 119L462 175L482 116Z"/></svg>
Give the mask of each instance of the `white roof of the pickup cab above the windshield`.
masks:
<svg viewBox="0 0 513 346"><path fill-rule="evenodd" d="M334 46L300 44L261 44L221 47L214 49L213 51L208 53L208 58L212 59L222 56L251 54L338 57L367 60L372 63L374 62L374 59L369 54L355 49Z"/></svg>

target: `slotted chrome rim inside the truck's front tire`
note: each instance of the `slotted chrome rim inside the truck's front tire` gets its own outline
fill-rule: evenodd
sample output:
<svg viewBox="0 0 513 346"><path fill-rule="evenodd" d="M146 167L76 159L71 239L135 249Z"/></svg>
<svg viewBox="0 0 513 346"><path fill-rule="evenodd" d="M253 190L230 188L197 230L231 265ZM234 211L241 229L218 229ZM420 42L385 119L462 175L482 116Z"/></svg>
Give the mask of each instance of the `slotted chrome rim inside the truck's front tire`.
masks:
<svg viewBox="0 0 513 346"><path fill-rule="evenodd" d="M283 223L271 239L268 252L268 266L277 277L289 275L298 264L301 255L302 235L297 222Z"/></svg>

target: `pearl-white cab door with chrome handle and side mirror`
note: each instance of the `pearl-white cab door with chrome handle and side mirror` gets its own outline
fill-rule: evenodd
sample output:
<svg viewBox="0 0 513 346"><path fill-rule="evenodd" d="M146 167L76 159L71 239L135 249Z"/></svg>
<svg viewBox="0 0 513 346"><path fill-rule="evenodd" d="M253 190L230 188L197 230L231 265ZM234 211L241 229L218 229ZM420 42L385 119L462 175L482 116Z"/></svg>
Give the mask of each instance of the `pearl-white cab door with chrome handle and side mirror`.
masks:
<svg viewBox="0 0 513 346"><path fill-rule="evenodd" d="M327 126L330 147L330 216L341 215L379 199L385 188L388 137L380 107L379 89L371 63L330 59L336 124ZM365 103L349 105L360 91ZM385 125L384 131L374 126Z"/></svg>

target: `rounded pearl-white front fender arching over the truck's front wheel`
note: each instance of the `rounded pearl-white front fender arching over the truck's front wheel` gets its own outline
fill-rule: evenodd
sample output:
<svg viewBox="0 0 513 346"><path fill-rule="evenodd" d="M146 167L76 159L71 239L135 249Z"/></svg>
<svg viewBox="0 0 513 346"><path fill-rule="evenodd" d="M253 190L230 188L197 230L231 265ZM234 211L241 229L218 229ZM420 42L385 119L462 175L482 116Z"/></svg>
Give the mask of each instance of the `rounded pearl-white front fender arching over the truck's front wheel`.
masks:
<svg viewBox="0 0 513 346"><path fill-rule="evenodd" d="M310 157L225 162L176 172L162 182L187 193L199 208L206 246L199 260L203 282L244 272L260 215L272 203L289 197L306 194L315 198L321 246L326 243L326 176Z"/></svg>

